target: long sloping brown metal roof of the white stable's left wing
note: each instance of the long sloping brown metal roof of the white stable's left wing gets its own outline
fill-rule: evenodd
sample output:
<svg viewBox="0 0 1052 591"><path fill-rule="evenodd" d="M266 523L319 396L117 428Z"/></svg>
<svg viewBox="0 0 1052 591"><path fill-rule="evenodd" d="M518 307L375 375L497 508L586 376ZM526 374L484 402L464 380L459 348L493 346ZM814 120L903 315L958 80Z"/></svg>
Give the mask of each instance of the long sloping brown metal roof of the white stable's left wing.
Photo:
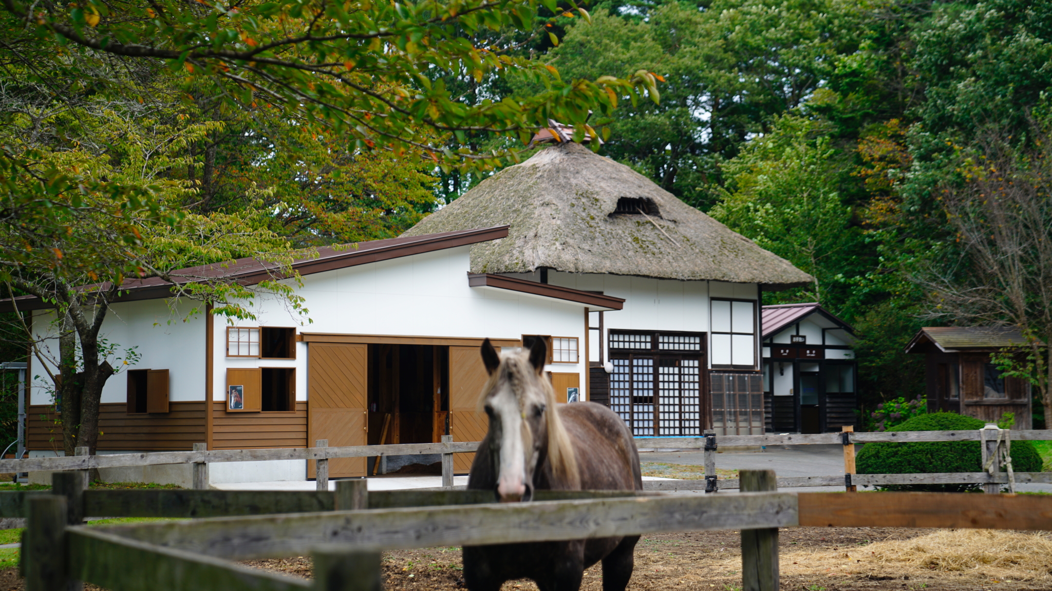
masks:
<svg viewBox="0 0 1052 591"><path fill-rule="evenodd" d="M292 262L292 268L301 276L342 269L376 263L410 254L420 254L432 250L467 246L479 242L497 240L508 236L508 226L447 231L417 237L399 237L386 240L372 240L342 246L324 246L318 248L317 257L305 257ZM282 279L280 266L260 261L251 257L237 259L226 264L215 263L200 265L171 271L169 274L176 284L190 283L209 279L236 279L242 285L255 285L264 280ZM128 279L121 284L122 294L115 302L130 302L135 300L157 300L171 295L173 283L161 278L144 280ZM101 286L105 288L105 285ZM96 286L85 286L93 289ZM15 305L21 311L48 309L53 306L35 295L22 295L14 302L0 301L0 312L15 310Z"/></svg>

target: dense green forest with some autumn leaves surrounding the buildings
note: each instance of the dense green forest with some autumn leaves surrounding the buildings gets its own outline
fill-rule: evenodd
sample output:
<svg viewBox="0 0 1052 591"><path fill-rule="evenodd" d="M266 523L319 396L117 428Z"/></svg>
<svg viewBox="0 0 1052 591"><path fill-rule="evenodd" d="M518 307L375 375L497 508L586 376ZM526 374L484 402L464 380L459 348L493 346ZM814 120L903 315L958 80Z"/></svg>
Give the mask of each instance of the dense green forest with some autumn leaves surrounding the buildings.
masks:
<svg viewBox="0 0 1052 591"><path fill-rule="evenodd" d="M69 339L34 354L78 376L66 401L135 355L84 313L121 278L398 236L554 119L814 276L765 303L856 327L864 409L919 395L903 346L955 323L1021 327L1006 368L1038 421L1052 402L1052 5L8 0L0 19L0 289L63 310ZM202 280L174 321L248 318L254 290L300 304ZM24 359L20 317L2 330Z"/></svg>

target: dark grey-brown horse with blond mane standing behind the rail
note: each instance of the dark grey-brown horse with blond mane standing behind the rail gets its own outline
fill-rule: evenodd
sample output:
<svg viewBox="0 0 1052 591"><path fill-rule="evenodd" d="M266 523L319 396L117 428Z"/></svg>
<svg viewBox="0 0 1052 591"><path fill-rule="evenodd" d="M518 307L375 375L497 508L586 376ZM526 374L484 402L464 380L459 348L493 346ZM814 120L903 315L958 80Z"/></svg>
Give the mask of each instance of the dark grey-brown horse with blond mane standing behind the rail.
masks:
<svg viewBox="0 0 1052 591"><path fill-rule="evenodd" d="M498 353L489 340L482 361L489 379L480 406L489 430L468 475L469 490L491 490L502 503L529 501L535 490L643 490L640 455L625 422L590 402L555 404L544 375L547 347ZM531 578L541 591L576 591L584 570L603 562L603 591L624 591L640 536L465 547L464 583L498 591Z"/></svg>

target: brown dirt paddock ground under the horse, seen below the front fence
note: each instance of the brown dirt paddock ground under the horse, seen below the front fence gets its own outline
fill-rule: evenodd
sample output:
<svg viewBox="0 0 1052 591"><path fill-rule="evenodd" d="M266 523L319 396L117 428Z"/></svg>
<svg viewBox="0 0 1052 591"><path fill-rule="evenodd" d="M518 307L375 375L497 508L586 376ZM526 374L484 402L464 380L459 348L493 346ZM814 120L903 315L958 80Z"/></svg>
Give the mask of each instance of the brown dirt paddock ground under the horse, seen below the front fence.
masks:
<svg viewBox="0 0 1052 591"><path fill-rule="evenodd" d="M1052 564L1039 572L1012 572L982 567L958 571L895 568L867 561L873 544L910 541L933 530L895 528L790 528L780 532L782 589L786 591L915 591L915 590L1050 590ZM908 547L898 545L897 547ZM878 546L873 546L878 548ZM635 570L628 591L740 591L741 537L736 531L676 533L644 536L635 549ZM384 553L385 589L431 591L463 589L458 548L432 548ZM849 564L850 563L850 564ZM267 570L310 576L309 558L246 563ZM918 570L920 573L918 574ZM0 588L2 590L3 588ZM584 591L601 591L600 565L585 573ZM502 591L535 591L529 580L508 582Z"/></svg>

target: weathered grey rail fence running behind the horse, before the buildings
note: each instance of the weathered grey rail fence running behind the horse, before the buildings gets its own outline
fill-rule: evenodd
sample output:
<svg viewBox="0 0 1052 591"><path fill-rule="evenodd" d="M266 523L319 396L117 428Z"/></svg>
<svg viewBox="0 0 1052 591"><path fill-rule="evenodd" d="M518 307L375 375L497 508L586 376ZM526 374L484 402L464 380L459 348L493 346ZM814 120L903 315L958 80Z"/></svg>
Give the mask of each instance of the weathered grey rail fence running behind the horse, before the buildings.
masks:
<svg viewBox="0 0 1052 591"><path fill-rule="evenodd" d="M996 441L993 433L984 435L980 430L964 431L893 431L855 433L851 427L845 427L839 433L813 434L766 434L766 435L716 435L706 431L701 437L640 437L635 445L640 449L680 449L704 450L705 481L647 481L647 490L700 490L704 484L707 492L720 489L736 489L740 483L734 480L717 480L715 471L715 453L720 446L773 446L773 445L843 445L845 450L845 476L796 476L777 480L777 486L809 487L809 486L845 486L854 490L857 486L884 486L901 484L984 484L986 491L995 493L1002 484L1008 482L1008 475L999 471L1000 466L994 462L986 472L950 472L934 474L856 474L854 466L854 445L878 442L963 442L985 441L983 447L983 463L987 464L990 454L995 453ZM987 430L992 431L992 430ZM1052 430L1019 430L1005 431L1013 441L1052 441ZM336 457L367 457L381 455L416 455L442 454L442 486L452 488L452 454L473 452L479 449L479 442L453 442L450 435L444 435L442 443L432 444L391 444L348 447L327 447L327 442L320 440L312 448L282 449L235 449L208 451L205 444L195 444L193 451L160 451L146 453L120 453L106 455L87 455L86 448L78 448L78 454L60 457L27 457L22 460L0 460L0 472L31 472L53 470L88 470L92 468L115 468L124 466L151 466L161 464L193 464L195 466L195 488L207 488L207 465L221 462L260 462L271 460L308 460L317 462L317 488L328 490L328 460ZM86 472L85 472L86 473ZM1015 472L1016 483L1052 483L1050 472Z"/></svg>

